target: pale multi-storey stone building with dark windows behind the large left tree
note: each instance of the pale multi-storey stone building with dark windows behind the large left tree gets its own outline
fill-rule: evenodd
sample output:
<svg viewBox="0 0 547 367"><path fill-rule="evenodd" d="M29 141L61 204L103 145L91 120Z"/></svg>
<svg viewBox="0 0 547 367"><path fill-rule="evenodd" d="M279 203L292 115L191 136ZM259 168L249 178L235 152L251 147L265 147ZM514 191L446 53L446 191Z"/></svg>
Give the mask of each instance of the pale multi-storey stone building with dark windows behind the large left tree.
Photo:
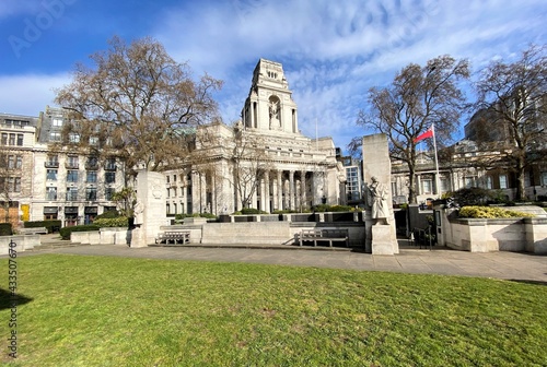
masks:
<svg viewBox="0 0 547 367"><path fill-rule="evenodd" d="M62 109L49 106L37 118L34 166L30 170L31 221L60 220L63 226L92 223L96 215L115 209L112 193L125 187L121 166L115 158L100 162L71 151L70 145L53 147L51 143L62 139L80 139L63 135L67 122Z"/></svg>

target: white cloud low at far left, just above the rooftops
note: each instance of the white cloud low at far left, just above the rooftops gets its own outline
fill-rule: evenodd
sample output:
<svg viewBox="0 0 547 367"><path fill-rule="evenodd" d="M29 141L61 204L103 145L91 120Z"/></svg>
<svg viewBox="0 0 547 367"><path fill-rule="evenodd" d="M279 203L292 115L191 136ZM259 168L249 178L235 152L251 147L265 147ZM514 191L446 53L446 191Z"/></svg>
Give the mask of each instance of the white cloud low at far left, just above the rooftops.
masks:
<svg viewBox="0 0 547 367"><path fill-rule="evenodd" d="M0 113L38 116L54 105L53 88L70 82L68 74L0 76Z"/></svg>

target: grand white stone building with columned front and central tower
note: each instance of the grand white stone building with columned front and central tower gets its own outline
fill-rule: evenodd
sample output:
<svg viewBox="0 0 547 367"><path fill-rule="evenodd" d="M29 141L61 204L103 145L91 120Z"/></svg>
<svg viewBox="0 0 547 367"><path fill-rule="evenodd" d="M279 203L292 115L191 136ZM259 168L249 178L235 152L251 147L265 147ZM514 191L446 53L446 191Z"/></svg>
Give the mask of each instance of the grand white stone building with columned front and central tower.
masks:
<svg viewBox="0 0 547 367"><path fill-rule="evenodd" d="M346 175L333 139L300 132L298 107L278 62L258 61L240 121L200 126L196 134L193 161L165 173L167 214L340 203Z"/></svg>

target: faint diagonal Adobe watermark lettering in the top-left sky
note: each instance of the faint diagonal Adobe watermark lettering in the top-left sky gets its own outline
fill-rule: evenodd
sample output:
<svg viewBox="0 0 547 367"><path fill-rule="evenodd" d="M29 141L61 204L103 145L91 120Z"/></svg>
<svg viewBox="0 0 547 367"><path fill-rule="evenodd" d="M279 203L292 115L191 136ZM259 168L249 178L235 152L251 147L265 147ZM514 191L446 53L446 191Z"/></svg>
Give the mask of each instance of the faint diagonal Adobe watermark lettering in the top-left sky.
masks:
<svg viewBox="0 0 547 367"><path fill-rule="evenodd" d="M33 17L25 17L23 21L22 34L10 35L10 43L13 54L19 59L24 49L31 48L33 44L42 38L44 32L49 29L63 14L68 5L78 0L44 0L42 11Z"/></svg>

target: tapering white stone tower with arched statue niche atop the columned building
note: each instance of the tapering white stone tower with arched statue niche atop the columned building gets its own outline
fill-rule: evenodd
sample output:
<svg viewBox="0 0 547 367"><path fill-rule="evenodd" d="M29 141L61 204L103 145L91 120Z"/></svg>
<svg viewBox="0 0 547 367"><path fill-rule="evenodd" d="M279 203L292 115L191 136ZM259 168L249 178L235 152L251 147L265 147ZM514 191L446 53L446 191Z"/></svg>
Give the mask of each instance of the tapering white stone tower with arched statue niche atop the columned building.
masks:
<svg viewBox="0 0 547 367"><path fill-rule="evenodd" d="M296 104L279 62L260 59L242 111L246 129L300 133Z"/></svg>

